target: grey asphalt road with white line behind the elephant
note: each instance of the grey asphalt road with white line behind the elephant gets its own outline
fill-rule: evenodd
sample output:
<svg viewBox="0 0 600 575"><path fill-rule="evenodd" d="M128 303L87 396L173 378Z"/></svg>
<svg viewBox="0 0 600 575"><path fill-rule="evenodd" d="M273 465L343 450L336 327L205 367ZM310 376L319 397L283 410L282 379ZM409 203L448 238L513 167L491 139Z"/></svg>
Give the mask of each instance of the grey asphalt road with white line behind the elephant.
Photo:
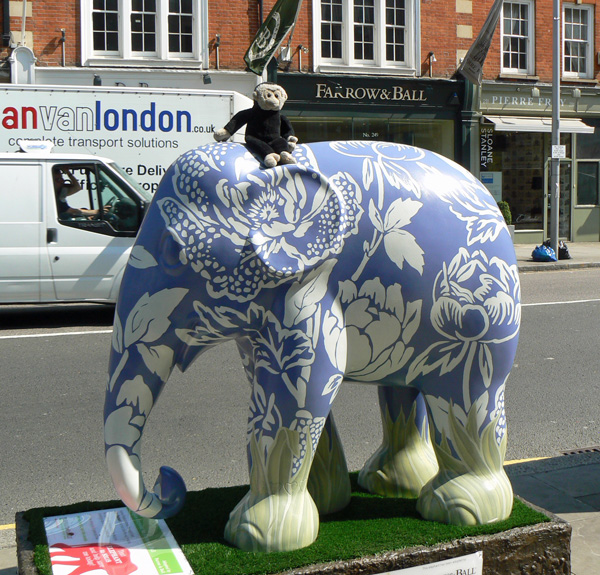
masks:
<svg viewBox="0 0 600 575"><path fill-rule="evenodd" d="M521 281L508 459L596 446L600 270L522 274ZM111 322L103 306L0 308L0 526L32 507L116 497L102 441ZM147 425L147 483L160 465L175 467L191 490L247 482L248 396L232 344L175 373ZM348 465L358 469L381 438L376 388L346 386L333 412Z"/></svg>

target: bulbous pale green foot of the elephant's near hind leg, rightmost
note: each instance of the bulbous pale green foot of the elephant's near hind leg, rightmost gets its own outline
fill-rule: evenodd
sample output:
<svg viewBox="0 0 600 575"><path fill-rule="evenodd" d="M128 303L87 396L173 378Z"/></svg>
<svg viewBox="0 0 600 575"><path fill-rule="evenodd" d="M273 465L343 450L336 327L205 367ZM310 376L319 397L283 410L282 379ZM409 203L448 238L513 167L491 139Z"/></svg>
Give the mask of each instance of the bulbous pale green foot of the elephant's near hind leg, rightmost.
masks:
<svg viewBox="0 0 600 575"><path fill-rule="evenodd" d="M417 501L423 518L453 525L502 521L511 514L512 506L512 486L503 469L485 475L440 473L423 488Z"/></svg>

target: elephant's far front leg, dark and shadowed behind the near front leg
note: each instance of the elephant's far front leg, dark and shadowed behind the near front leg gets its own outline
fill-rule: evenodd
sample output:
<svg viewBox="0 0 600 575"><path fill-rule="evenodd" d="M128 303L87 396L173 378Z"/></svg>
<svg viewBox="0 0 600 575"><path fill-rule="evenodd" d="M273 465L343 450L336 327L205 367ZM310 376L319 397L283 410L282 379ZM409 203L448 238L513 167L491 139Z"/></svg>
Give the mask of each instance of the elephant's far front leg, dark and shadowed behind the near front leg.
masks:
<svg viewBox="0 0 600 575"><path fill-rule="evenodd" d="M350 503L350 477L333 413L327 418L317 446L308 491L321 515L340 511Z"/></svg>

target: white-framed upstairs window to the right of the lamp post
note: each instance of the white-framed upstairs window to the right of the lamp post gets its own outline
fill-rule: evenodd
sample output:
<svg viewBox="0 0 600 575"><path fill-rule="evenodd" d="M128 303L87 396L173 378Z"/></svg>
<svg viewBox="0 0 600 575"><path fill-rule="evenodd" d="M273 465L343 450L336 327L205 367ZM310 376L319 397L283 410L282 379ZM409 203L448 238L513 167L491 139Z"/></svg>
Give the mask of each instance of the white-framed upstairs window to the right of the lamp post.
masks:
<svg viewBox="0 0 600 575"><path fill-rule="evenodd" d="M563 5L563 74L591 78L593 64L593 6Z"/></svg>

